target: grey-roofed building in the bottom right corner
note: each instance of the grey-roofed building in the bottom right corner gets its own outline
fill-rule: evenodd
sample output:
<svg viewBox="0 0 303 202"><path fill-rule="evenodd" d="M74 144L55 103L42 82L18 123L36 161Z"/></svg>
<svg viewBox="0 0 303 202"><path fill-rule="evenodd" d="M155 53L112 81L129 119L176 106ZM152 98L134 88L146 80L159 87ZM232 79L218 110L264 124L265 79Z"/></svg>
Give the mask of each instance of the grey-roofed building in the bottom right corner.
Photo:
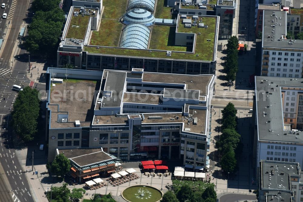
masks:
<svg viewBox="0 0 303 202"><path fill-rule="evenodd" d="M261 160L259 165L258 201L303 201L299 163Z"/></svg>

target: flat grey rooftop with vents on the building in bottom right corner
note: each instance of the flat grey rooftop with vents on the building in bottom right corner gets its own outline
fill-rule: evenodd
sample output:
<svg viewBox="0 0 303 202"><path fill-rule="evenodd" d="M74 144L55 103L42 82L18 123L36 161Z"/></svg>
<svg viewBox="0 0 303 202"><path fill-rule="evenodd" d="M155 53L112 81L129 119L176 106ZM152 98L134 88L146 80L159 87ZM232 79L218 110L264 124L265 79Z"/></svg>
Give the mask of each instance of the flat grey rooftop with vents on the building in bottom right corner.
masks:
<svg viewBox="0 0 303 202"><path fill-rule="evenodd" d="M299 163L261 161L262 190L291 190L289 177L300 177Z"/></svg>

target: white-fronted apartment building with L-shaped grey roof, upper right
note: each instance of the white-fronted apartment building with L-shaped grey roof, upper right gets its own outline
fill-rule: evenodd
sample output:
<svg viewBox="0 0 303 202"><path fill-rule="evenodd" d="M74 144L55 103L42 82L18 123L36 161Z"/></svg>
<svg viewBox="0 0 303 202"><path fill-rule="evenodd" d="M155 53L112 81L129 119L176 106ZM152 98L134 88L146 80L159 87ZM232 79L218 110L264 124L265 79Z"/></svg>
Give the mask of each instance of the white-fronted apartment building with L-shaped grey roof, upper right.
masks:
<svg viewBox="0 0 303 202"><path fill-rule="evenodd" d="M303 40L286 39L286 11L264 10L262 76L302 77Z"/></svg>

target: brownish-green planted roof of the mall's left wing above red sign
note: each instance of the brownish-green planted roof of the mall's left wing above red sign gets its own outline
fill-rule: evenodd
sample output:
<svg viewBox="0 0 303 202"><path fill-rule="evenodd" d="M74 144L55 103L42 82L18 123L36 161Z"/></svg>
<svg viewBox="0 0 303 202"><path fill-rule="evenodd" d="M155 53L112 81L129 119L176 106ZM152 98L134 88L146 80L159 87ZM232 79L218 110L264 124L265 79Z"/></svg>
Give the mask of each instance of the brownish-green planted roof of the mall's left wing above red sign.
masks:
<svg viewBox="0 0 303 202"><path fill-rule="evenodd" d="M74 11L80 11L79 8L75 8ZM91 15L78 15L77 17L72 16L71 23L68 28L68 32L66 35L67 39L75 38L75 39L84 39L84 35L87 29L88 20L91 17ZM73 27L73 25L79 26L79 27Z"/></svg>

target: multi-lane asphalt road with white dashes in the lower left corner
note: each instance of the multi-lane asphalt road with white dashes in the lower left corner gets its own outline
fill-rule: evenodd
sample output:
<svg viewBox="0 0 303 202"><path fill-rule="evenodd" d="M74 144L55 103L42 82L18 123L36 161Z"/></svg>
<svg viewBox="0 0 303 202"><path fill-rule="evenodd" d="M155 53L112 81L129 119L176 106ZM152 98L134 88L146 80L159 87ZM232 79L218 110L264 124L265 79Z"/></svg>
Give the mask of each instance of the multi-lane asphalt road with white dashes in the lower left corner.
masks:
<svg viewBox="0 0 303 202"><path fill-rule="evenodd" d="M26 179L26 176L24 175L24 171L21 169L21 165L19 164L19 161L17 157L15 156L15 150L11 149L12 145L10 144L11 141L11 134L8 132L8 126L9 121L11 120L10 115L0 115L1 118L1 136L0 136L0 159L1 159L1 165L3 167L4 173L6 175L6 178L8 179L8 182L10 183L11 192L9 194L11 195L13 201L26 201L31 202L34 201L32 198L32 195L30 193L30 188ZM2 178L3 179L3 178ZM0 184L2 182L2 179L0 180ZM5 184L2 184L4 187ZM7 195L7 192L1 193L3 197ZM5 200L6 201L6 200ZM10 201L10 200L8 200Z"/></svg>

